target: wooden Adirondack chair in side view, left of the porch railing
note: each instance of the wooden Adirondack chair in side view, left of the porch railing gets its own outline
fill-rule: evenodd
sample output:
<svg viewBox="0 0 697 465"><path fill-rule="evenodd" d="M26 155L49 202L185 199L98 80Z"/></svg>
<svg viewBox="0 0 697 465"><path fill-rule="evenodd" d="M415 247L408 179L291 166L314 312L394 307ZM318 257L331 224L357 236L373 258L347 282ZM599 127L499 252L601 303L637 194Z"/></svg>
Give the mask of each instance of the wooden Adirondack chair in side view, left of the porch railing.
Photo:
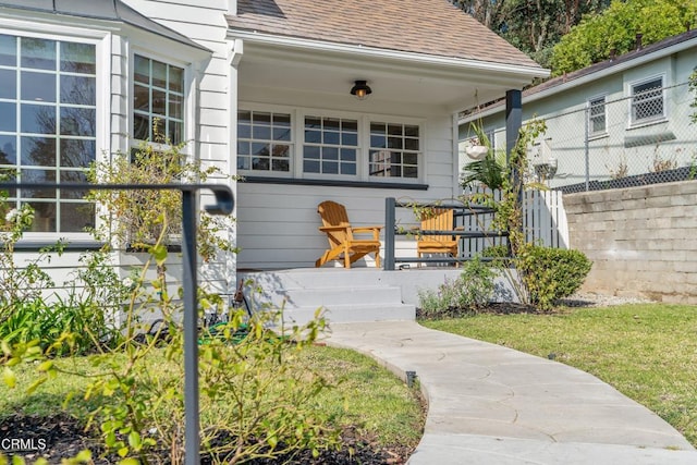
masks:
<svg viewBox="0 0 697 465"><path fill-rule="evenodd" d="M327 234L329 249L315 262L315 267L321 267L331 260L343 260L344 268L351 268L351 264L368 254L375 254L375 266L380 267L382 227L352 228L346 208L331 200L319 204L317 212L322 219L319 231ZM372 238L355 238L355 233L371 233Z"/></svg>

